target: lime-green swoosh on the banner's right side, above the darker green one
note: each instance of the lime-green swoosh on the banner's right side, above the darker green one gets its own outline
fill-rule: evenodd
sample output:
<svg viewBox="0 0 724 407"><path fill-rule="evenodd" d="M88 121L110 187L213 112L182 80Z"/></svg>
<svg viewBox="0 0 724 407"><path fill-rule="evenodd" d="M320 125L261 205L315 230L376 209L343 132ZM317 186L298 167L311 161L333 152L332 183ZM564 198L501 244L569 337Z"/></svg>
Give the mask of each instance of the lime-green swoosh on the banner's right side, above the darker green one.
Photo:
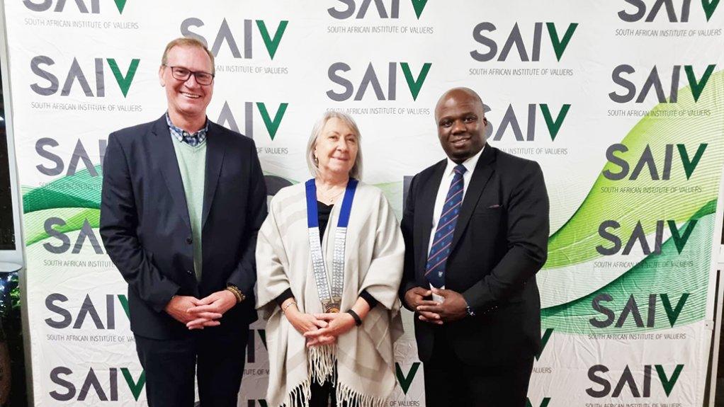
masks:
<svg viewBox="0 0 724 407"><path fill-rule="evenodd" d="M681 117L646 116L628 132L621 144L628 152L618 153L625 158L631 168L626 179L612 181L599 175L591 191L558 231L549 239L548 261L544 269L555 269L577 265L600 257L596 247L610 247L610 241L598 234L599 225L604 220L616 220L621 224L617 236L631 236L637 222L644 226L646 234L652 233L656 220L665 215L665 220L677 223L691 218L700 207L718 196L724 155L724 71L712 74L706 90L694 103L689 87L679 91L678 103L660 103L652 109L652 114L665 111L683 111ZM709 116L686 116L690 110L707 110ZM664 170L665 145L673 145L673 160L670 168L670 180L654 180L649 168L644 166L638 179L632 180L639 158L649 147L661 177ZM694 160L697 149L707 144L691 178L687 180L685 166L680 159L677 144L686 147L688 159ZM691 165L689 165L691 167ZM620 167L607 163L603 171L620 172ZM629 192L605 192L614 188L650 188L650 187L695 187L695 192L677 192L668 194L647 194Z"/></svg>

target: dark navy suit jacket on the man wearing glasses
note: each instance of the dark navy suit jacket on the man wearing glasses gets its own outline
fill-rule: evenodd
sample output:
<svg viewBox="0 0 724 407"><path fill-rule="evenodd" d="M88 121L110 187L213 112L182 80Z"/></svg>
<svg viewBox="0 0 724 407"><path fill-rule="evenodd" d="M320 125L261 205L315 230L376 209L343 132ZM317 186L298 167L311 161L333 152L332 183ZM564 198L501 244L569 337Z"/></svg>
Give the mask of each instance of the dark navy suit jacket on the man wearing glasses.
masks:
<svg viewBox="0 0 724 407"><path fill-rule="evenodd" d="M254 142L209 123L203 192L203 275L193 269L193 236L165 116L109 136L101 195L101 237L128 283L131 330L182 338L188 329L164 312L175 294L203 298L239 287L245 301L224 314L216 333L245 335L256 320L256 234L266 187ZM209 328L207 328L209 329Z"/></svg>

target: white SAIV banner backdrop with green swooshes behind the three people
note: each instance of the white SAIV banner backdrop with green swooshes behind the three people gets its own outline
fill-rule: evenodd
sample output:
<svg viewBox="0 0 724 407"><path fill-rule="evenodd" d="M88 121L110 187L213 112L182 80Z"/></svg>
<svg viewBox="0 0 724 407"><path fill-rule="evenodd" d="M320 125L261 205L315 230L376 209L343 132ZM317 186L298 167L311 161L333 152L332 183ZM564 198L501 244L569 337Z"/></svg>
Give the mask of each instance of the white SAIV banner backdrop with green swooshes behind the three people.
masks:
<svg viewBox="0 0 724 407"><path fill-rule="evenodd" d="M270 193L309 178L322 112L351 113L364 180L402 213L444 157L434 104L468 86L488 141L551 202L530 406L701 406L724 153L718 0L5 2L37 406L143 406L126 286L98 236L107 134L165 110L165 44L216 54L209 119L252 137ZM718 247L718 245L717 245ZM411 314L389 406L424 406ZM266 406L264 324L239 406Z"/></svg>

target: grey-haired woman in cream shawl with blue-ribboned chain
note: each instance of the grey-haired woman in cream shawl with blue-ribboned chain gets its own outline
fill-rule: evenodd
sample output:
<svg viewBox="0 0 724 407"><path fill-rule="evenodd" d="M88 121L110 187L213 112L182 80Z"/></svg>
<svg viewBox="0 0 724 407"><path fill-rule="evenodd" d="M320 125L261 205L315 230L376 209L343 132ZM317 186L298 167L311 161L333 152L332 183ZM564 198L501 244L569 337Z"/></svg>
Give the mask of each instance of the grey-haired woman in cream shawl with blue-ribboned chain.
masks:
<svg viewBox="0 0 724 407"><path fill-rule="evenodd" d="M259 231L270 406L382 407L395 387L405 244L382 191L359 181L360 143L350 116L324 113L313 179L279 191Z"/></svg>

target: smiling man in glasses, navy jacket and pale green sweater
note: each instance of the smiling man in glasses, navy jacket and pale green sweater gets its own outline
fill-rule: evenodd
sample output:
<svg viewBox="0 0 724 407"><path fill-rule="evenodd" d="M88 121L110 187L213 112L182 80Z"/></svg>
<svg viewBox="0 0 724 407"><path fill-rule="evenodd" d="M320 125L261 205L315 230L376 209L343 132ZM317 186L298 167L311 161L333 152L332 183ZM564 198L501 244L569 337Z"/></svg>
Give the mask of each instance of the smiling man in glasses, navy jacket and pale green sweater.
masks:
<svg viewBox="0 0 724 407"><path fill-rule="evenodd" d="M101 236L128 283L149 406L237 406L256 320L256 234L266 188L251 139L206 118L214 56L173 40L159 68L168 111L110 135Z"/></svg>

